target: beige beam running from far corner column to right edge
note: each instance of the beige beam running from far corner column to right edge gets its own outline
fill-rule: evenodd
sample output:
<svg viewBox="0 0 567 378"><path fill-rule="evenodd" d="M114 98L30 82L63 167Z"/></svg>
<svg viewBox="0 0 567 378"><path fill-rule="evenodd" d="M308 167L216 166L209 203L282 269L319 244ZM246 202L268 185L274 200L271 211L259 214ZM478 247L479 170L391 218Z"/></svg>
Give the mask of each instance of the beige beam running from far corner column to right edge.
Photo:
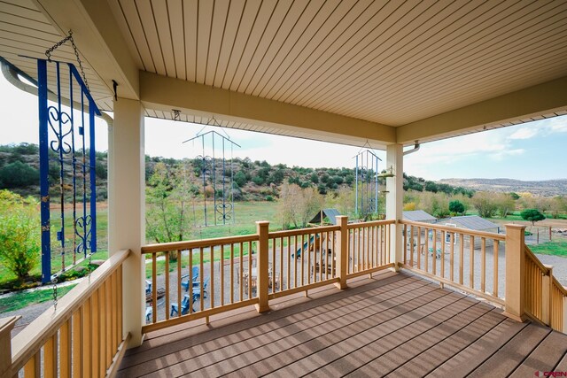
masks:
<svg viewBox="0 0 567 378"><path fill-rule="evenodd" d="M565 109L567 76L400 126L397 140L426 142Z"/></svg>

